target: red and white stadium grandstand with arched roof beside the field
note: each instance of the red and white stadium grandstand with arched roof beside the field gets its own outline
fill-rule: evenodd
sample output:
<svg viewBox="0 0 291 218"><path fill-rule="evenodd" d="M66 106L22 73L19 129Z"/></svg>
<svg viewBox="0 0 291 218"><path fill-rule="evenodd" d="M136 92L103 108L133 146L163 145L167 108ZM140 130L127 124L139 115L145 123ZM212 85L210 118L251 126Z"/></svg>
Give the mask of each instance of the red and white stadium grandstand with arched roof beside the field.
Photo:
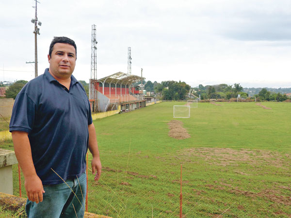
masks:
<svg viewBox="0 0 291 218"><path fill-rule="evenodd" d="M140 85L141 90L138 91L136 87L132 87L133 83L144 79L122 72L100 79L90 79L89 100L92 111L116 110L119 105L124 112L146 107L143 85Z"/></svg>

